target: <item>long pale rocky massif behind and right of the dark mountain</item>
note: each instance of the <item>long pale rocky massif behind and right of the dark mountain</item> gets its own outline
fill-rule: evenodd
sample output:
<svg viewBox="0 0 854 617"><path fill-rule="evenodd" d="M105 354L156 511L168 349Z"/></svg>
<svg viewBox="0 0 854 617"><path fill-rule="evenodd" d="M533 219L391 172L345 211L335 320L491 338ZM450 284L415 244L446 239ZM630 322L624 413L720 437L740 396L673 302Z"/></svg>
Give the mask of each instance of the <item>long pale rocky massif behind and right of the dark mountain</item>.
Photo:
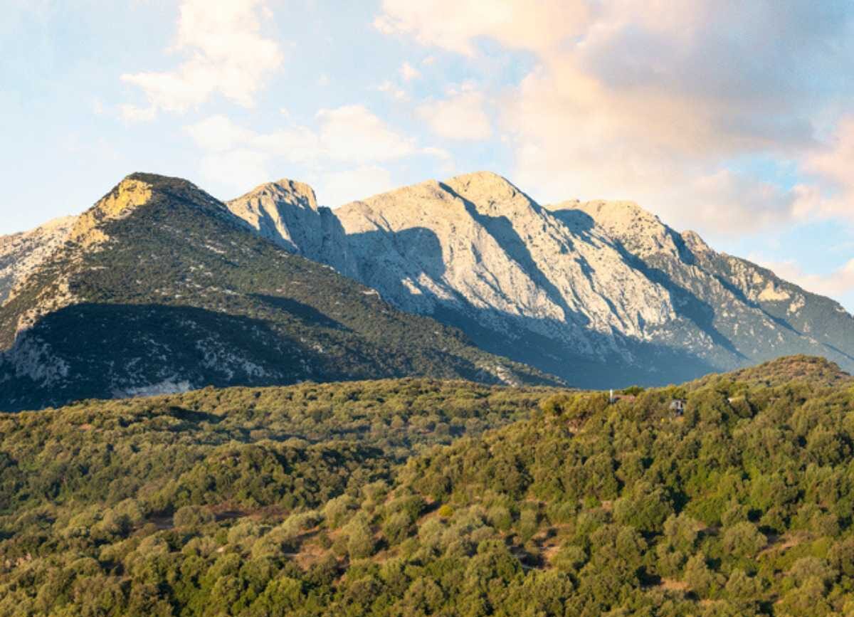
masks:
<svg viewBox="0 0 854 617"><path fill-rule="evenodd" d="M336 248L320 232L323 243L294 242L307 221L289 218L296 199L268 206L294 221L282 240L291 250L573 385L674 383L792 354L854 368L854 318L838 303L635 203L541 206L494 173L471 173L325 212L325 228L334 215L344 232Z"/></svg>

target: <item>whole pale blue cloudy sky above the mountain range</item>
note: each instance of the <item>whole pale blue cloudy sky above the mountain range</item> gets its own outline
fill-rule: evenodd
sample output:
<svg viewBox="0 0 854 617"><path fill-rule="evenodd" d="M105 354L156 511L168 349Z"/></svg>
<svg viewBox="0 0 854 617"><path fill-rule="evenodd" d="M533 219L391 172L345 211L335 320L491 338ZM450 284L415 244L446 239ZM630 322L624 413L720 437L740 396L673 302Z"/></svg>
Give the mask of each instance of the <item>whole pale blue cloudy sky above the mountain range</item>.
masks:
<svg viewBox="0 0 854 617"><path fill-rule="evenodd" d="M0 0L0 234L134 171L332 208L488 169L854 311L849 0Z"/></svg>

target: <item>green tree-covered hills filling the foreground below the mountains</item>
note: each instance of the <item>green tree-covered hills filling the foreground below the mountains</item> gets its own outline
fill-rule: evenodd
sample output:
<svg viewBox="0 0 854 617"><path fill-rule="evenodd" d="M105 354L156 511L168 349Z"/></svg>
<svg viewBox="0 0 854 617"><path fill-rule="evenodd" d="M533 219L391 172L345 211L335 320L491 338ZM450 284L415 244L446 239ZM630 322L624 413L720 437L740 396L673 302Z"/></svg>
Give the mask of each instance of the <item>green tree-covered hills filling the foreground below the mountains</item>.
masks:
<svg viewBox="0 0 854 617"><path fill-rule="evenodd" d="M833 369L615 404L403 380L0 416L0 614L849 614Z"/></svg>

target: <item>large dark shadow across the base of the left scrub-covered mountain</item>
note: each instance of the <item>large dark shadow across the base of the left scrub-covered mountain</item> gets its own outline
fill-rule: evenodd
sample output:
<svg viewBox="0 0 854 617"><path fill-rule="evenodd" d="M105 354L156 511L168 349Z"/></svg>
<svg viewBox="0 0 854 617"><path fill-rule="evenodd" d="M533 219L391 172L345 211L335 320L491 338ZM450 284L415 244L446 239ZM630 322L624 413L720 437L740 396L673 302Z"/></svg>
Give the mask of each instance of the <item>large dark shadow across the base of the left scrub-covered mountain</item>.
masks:
<svg viewBox="0 0 854 617"><path fill-rule="evenodd" d="M157 304L58 310L2 358L6 411L204 385L291 384L329 372L317 352L263 320Z"/></svg>

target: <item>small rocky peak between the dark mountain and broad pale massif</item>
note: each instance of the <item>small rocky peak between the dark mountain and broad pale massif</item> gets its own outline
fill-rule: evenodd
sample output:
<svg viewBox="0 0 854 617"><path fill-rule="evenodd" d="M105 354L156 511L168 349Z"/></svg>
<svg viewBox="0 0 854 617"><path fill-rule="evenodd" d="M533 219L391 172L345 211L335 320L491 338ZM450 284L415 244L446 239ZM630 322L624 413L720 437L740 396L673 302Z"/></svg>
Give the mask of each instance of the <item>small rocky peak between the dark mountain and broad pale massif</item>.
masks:
<svg viewBox="0 0 854 617"><path fill-rule="evenodd" d="M318 207L309 185L281 179L257 186L226 205L263 238L329 264L345 276L355 276L341 223L330 209Z"/></svg>

